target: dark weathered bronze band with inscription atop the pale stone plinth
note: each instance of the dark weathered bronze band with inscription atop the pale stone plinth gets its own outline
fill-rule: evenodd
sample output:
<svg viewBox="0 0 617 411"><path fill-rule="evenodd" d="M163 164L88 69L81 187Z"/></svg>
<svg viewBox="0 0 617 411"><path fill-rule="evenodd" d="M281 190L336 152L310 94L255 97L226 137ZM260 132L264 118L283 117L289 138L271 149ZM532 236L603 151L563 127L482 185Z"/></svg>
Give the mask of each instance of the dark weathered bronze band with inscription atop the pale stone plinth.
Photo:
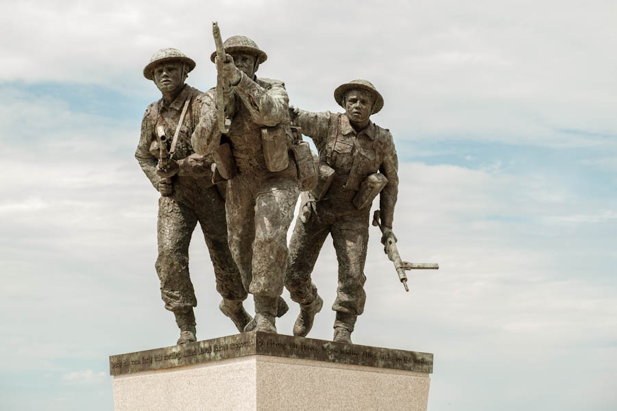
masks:
<svg viewBox="0 0 617 411"><path fill-rule="evenodd" d="M111 375L122 375L254 355L433 373L431 353L255 331L110 356L109 370Z"/></svg>

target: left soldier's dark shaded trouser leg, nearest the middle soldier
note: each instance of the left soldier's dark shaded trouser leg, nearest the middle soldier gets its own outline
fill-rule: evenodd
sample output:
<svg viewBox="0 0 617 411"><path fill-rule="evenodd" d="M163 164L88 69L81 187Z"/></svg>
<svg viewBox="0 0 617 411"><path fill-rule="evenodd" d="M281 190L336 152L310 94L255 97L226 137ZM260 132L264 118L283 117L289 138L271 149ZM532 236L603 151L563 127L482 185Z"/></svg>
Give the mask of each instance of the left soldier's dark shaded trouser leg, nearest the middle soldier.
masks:
<svg viewBox="0 0 617 411"><path fill-rule="evenodd" d="M225 201L217 188L210 187L200 193L195 205L214 266L217 291L223 299L243 301L247 292L229 249Z"/></svg>

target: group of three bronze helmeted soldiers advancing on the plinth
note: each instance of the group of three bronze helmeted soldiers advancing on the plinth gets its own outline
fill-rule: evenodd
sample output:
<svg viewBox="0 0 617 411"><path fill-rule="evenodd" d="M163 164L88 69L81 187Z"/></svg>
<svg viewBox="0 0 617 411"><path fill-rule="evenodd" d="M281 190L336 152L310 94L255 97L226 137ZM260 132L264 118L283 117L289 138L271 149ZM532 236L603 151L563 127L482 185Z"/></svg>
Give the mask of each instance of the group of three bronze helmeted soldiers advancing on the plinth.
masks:
<svg viewBox="0 0 617 411"><path fill-rule="evenodd" d="M276 317L288 310L280 297L286 286L300 304L293 334L309 333L323 305L311 272L331 234L339 263L334 340L351 343L365 304L369 214L377 192L382 242L394 237L396 151L387 129L369 119L383 98L370 82L354 80L335 90L345 114L298 110L289 106L282 82L255 76L267 55L254 41L233 36L223 47L223 55L212 55L225 81L221 90L185 84L195 62L177 49L158 51L143 70L162 99L145 112L135 155L161 194L156 271L165 308L180 328L178 344L196 340L189 242L197 222L223 297L219 308L240 332L276 332ZM224 133L221 116L228 121ZM300 172L306 158L293 149L292 122L313 139L319 161L310 159L318 182L302 191L288 252L287 231L306 189ZM247 293L254 297L254 318L243 308Z"/></svg>

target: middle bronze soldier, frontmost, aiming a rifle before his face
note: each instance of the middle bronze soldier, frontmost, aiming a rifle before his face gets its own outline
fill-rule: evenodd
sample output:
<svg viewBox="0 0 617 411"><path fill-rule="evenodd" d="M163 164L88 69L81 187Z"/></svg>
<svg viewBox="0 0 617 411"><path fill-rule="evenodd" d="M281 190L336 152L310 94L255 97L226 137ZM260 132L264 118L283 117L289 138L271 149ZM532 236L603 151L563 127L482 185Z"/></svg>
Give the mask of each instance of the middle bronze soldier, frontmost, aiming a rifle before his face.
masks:
<svg viewBox="0 0 617 411"><path fill-rule="evenodd" d="M255 329L276 332L275 317L288 309L280 294L287 230L299 194L296 164L287 144L289 99L282 82L255 76L267 55L253 40L232 36L223 47L225 57L215 52L212 60L227 82L230 128L221 134L220 114L213 104L209 112L202 112L193 147L199 154L215 153L217 169L229 178L226 210L232 256L245 288L254 295ZM207 94L214 102L215 91Z"/></svg>

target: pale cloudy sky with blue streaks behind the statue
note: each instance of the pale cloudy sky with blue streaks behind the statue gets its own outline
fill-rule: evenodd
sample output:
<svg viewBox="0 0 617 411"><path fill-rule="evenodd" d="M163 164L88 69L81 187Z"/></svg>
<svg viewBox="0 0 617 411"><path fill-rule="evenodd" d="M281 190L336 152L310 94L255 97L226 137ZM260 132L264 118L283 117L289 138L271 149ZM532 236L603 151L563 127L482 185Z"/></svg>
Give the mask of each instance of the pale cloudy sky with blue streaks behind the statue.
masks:
<svg viewBox="0 0 617 411"><path fill-rule="evenodd" d="M354 343L433 353L431 411L617 409L614 1L0 3L1 410L112 410L108 356L178 338L133 157L160 98L142 70L177 47L214 86L212 21L292 105L341 111L356 78L385 99L398 247L439 271L404 292L371 227ZM190 256L197 338L235 334L199 233ZM332 338L336 273L328 239L310 337Z"/></svg>

